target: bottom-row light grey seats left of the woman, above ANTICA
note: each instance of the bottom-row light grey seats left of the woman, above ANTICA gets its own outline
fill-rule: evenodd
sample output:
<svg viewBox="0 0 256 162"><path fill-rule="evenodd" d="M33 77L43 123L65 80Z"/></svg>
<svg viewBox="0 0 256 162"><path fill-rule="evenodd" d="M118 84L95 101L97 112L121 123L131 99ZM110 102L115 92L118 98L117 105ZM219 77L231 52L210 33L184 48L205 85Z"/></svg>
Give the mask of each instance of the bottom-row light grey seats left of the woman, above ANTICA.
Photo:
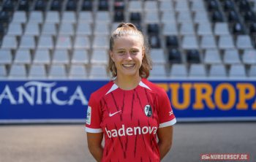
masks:
<svg viewBox="0 0 256 162"><path fill-rule="evenodd" d="M89 69L89 73L87 72ZM52 65L50 66L49 73L47 74L45 66L42 65L31 65L29 72L26 71L24 65L12 65L10 67L10 73L7 77L7 69L5 66L0 65L0 79L108 79L106 74L106 66L86 66L73 65L69 68L67 74L66 67L63 65Z"/></svg>

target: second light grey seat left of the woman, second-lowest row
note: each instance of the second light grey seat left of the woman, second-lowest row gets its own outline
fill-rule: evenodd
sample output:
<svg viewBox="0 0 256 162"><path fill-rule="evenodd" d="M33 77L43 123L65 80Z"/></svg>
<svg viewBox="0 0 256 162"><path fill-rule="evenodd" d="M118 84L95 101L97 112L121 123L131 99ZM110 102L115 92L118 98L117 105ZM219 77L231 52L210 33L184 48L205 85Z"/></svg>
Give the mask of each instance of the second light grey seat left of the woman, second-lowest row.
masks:
<svg viewBox="0 0 256 162"><path fill-rule="evenodd" d="M87 64L89 63L89 55L86 50L74 50L72 55L72 64Z"/></svg>

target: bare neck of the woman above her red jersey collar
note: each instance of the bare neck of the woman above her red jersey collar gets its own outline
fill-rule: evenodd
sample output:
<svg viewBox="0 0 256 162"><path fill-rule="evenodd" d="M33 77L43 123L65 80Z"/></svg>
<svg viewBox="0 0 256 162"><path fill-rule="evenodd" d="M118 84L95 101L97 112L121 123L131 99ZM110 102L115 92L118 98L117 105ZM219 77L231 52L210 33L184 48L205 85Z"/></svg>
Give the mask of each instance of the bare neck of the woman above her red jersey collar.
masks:
<svg viewBox="0 0 256 162"><path fill-rule="evenodd" d="M133 90L139 85L140 81L141 77L139 74L135 76L117 75L116 80L113 80L118 88L121 88L122 90Z"/></svg>

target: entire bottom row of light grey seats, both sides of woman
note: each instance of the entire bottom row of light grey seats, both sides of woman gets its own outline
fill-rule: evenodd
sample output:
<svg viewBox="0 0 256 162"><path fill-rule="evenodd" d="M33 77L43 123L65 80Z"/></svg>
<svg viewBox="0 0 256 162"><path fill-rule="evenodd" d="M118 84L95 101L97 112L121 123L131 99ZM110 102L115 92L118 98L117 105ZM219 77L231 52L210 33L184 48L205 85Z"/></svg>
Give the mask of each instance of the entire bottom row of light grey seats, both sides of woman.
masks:
<svg viewBox="0 0 256 162"><path fill-rule="evenodd" d="M87 70L89 71L89 76ZM28 74L28 75L27 75ZM167 72L165 66L154 66L151 71L151 76L148 79L165 79L167 78ZM228 75L227 75L228 74ZM49 73L47 74L45 66L42 65L31 65L29 72L26 72L26 67L23 65L12 65L10 68L9 77L7 77L7 70L5 66L0 66L0 78L10 79L25 79L27 77L31 79L108 79L106 75L106 66L86 66L72 65L67 73L66 67L61 65L52 65ZM246 78L246 69L244 65L234 64L230 66L229 72L227 73L223 64L211 65L207 74L206 67L203 64L192 64L189 70L184 64L173 64L170 68L170 74L168 77L234 77L234 78ZM249 77L256 77L256 66L253 65L249 69Z"/></svg>

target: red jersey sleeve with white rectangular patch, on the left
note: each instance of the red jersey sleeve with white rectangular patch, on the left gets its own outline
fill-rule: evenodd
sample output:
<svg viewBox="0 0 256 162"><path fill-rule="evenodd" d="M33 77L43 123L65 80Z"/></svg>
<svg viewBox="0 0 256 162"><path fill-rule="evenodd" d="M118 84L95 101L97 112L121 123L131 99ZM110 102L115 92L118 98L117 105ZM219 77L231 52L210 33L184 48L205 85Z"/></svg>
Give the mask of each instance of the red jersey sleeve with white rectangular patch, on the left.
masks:
<svg viewBox="0 0 256 162"><path fill-rule="evenodd" d="M91 95L89 99L87 118L86 118L86 131L89 133L100 133L102 128L100 123L102 122L102 111L99 104Z"/></svg>

